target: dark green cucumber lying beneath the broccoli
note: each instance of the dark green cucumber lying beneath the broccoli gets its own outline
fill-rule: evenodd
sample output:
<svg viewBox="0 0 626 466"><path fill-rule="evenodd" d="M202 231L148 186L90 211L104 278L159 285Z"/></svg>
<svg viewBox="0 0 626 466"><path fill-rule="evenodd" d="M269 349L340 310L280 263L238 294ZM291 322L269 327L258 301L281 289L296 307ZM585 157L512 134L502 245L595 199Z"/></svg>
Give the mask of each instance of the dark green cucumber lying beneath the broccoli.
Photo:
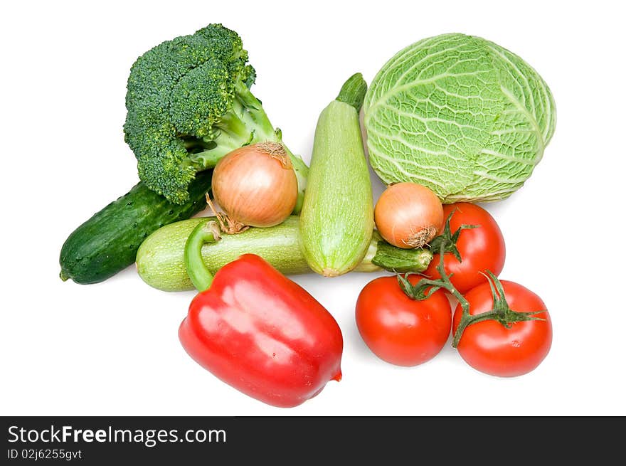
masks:
<svg viewBox="0 0 626 466"><path fill-rule="evenodd" d="M171 203L141 181L70 234L61 248L59 276L88 284L106 280L134 262L137 249L161 226L191 217L206 207L211 170L189 186L189 201Z"/></svg>

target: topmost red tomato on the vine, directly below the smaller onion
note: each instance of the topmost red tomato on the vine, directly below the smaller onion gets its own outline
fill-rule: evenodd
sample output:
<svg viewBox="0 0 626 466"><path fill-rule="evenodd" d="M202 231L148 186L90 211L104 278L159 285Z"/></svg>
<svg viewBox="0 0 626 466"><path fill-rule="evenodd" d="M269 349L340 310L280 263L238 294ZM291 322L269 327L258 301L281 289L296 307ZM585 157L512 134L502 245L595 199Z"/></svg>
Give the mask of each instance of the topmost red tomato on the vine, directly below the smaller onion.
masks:
<svg viewBox="0 0 626 466"><path fill-rule="evenodd" d="M457 240L457 249L461 254L461 262L451 253L444 255L445 272L452 275L450 281L460 293L465 293L484 282L480 272L491 270L499 275L504 268L504 238L502 231L494 218L484 208L472 203L455 203L443 206L443 213L447 218L451 212L450 230L457 231L461 225L477 225L477 228L462 230ZM433 253L435 251L433 250ZM424 272L425 275L440 278L437 272L439 254L435 254L433 261Z"/></svg>

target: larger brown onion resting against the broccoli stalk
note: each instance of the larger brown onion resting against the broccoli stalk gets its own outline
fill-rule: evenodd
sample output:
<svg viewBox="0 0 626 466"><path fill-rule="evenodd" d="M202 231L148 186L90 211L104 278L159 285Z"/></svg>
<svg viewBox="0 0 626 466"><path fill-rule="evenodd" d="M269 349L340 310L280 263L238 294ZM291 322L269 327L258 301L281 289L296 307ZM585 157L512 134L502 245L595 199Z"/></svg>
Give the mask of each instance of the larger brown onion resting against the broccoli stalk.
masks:
<svg viewBox="0 0 626 466"><path fill-rule="evenodd" d="M220 216L226 233L247 226L275 226L292 213L298 182L285 148L277 142L260 142L236 149L223 157L213 171L213 197L226 216Z"/></svg>

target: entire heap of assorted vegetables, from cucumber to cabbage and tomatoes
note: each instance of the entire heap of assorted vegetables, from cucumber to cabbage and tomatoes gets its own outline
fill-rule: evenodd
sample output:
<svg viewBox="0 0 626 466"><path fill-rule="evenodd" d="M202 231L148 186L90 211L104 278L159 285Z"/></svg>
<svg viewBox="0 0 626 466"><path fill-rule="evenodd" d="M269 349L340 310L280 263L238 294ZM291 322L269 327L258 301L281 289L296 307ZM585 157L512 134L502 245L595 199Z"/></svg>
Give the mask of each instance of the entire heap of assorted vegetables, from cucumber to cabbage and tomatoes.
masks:
<svg viewBox="0 0 626 466"><path fill-rule="evenodd" d="M452 334L484 373L539 366L552 341L546 306L499 280L502 232L471 203L510 196L543 156L556 113L539 74L482 38L415 43L370 88L361 73L346 80L319 116L310 169L270 124L254 80L240 37L221 25L137 59L124 134L142 181L70 235L61 278L100 282L135 262L159 290L195 287L181 344L274 406L339 381L343 350L331 313L283 273L394 272L364 287L355 314L391 364L422 364ZM376 206L361 107L388 184ZM189 218L206 204L212 217Z"/></svg>

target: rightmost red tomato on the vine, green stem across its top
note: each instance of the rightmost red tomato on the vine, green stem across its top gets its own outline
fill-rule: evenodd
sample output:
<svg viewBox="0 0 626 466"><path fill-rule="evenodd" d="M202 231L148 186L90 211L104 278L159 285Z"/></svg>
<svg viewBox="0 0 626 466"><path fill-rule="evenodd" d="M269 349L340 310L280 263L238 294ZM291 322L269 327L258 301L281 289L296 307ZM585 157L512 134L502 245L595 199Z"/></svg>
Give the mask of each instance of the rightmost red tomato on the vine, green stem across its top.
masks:
<svg viewBox="0 0 626 466"><path fill-rule="evenodd" d="M515 282L501 280L506 302L515 312L531 312L546 309L541 298ZM467 292L470 314L482 314L492 310L494 300L489 283ZM457 305L452 323L456 332L462 317L462 308ZM526 374L546 357L552 344L552 323L548 312L535 317L546 320L514 322L511 328L495 320L485 320L466 327L457 349L467 364L492 376L514 377Z"/></svg>

